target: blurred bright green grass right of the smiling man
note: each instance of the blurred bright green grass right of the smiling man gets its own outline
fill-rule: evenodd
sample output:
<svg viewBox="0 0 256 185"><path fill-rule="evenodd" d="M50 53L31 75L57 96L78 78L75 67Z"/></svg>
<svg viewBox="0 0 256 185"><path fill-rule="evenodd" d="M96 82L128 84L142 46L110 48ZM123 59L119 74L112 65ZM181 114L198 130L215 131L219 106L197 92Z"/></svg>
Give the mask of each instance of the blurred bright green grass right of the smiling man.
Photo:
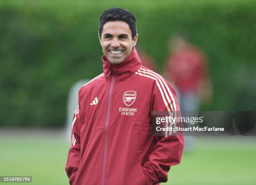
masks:
<svg viewBox="0 0 256 185"><path fill-rule="evenodd" d="M198 148L184 154L164 185L255 185L256 148ZM161 183L162 184L162 183Z"/></svg>

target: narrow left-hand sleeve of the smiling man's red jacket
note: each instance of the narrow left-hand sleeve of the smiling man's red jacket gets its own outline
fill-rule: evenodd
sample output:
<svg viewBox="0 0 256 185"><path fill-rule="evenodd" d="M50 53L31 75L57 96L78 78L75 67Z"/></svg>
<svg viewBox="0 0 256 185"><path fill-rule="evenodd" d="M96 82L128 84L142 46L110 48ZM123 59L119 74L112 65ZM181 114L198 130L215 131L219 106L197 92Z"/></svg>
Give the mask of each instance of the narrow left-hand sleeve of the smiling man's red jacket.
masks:
<svg viewBox="0 0 256 185"><path fill-rule="evenodd" d="M67 165L65 170L69 177L70 185L73 184L74 179L77 175L77 170L80 163L80 130L82 128L82 123L80 120L80 106L74 112L74 117L72 121L72 137L71 137L71 147L69 149Z"/></svg>

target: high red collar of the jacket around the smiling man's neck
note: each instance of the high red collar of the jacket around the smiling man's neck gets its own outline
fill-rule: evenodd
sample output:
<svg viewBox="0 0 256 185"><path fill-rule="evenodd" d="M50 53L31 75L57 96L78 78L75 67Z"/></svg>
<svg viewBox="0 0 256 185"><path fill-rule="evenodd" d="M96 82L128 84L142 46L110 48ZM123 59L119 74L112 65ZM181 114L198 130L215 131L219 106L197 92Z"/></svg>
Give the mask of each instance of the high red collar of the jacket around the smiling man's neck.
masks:
<svg viewBox="0 0 256 185"><path fill-rule="evenodd" d="M116 79L125 80L141 67L141 60L135 47L133 47L131 54L120 64L110 63L105 55L102 56L102 62L106 80L110 80L111 75L115 75Z"/></svg>

